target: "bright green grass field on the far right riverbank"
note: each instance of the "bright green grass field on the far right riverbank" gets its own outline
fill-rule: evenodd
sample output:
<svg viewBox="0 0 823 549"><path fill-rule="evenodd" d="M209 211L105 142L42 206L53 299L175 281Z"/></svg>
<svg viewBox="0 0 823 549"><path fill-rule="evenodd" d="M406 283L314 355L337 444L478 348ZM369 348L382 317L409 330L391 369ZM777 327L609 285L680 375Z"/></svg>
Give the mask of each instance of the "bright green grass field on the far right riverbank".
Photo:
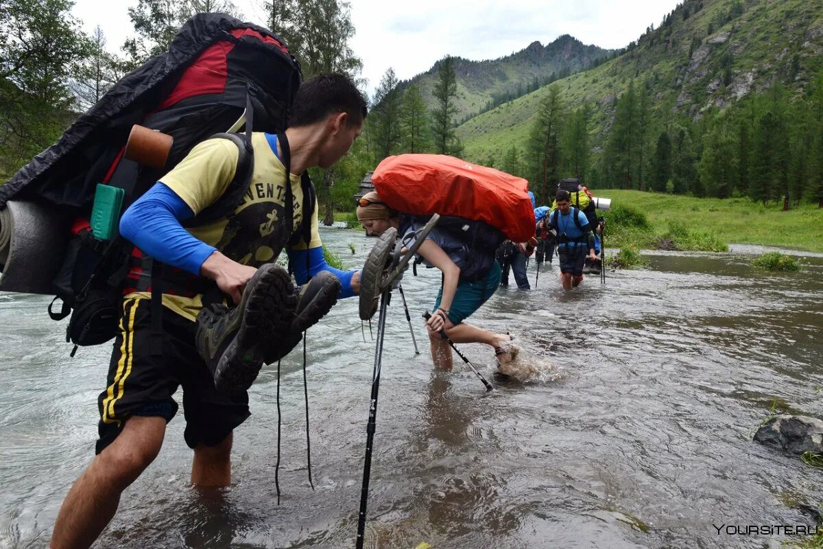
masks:
<svg viewBox="0 0 823 549"><path fill-rule="evenodd" d="M782 204L763 206L748 198L692 198L663 193L642 193L616 189L594 190L595 196L644 212L648 230L626 231L634 242L608 240L607 246L635 244L648 248L657 237L666 235L670 224L690 231L714 235L724 243L762 244L782 248L823 252L823 209L804 203L783 212Z"/></svg>

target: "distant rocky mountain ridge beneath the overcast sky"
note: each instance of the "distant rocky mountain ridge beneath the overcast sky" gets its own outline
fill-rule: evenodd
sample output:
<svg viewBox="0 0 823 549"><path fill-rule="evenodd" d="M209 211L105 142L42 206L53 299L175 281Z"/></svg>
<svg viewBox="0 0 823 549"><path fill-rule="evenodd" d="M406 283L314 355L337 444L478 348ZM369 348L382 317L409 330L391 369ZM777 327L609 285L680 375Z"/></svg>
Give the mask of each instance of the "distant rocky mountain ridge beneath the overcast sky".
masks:
<svg viewBox="0 0 823 549"><path fill-rule="evenodd" d="M470 61L454 58L458 81L456 119L463 120L486 109L486 105L495 96L523 95L528 90L541 86L552 75L557 77L578 72L609 54L611 50L584 45L570 35L563 35L546 46L532 42L516 54L495 60ZM439 66L440 62L435 63L428 72L402 81L399 87L406 89L412 84L420 86L426 106L433 108L435 98L431 92Z"/></svg>

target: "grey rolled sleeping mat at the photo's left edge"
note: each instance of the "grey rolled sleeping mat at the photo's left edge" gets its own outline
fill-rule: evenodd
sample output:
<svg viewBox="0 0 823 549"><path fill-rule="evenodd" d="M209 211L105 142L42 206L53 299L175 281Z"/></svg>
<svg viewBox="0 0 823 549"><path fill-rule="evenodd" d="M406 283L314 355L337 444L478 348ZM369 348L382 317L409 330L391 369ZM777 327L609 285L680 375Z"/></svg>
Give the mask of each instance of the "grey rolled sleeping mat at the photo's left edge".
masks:
<svg viewBox="0 0 823 549"><path fill-rule="evenodd" d="M54 207L8 201L0 210L0 291L53 295L70 223Z"/></svg>

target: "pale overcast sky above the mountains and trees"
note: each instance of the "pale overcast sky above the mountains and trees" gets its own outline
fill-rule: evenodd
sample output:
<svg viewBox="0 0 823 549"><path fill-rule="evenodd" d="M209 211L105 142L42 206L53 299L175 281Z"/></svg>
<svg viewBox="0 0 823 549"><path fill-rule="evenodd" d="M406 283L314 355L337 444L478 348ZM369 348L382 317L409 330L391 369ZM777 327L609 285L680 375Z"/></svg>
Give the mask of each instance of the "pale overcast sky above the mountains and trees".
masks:
<svg viewBox="0 0 823 549"><path fill-rule="evenodd" d="M428 70L446 54L482 60L512 54L535 40L572 35L584 44L621 48L681 0L351 0L351 40L374 92L388 67L400 80ZM128 7L137 0L76 0L74 14L91 33L100 25L109 49L133 33ZM263 0L234 0L246 21L265 25Z"/></svg>

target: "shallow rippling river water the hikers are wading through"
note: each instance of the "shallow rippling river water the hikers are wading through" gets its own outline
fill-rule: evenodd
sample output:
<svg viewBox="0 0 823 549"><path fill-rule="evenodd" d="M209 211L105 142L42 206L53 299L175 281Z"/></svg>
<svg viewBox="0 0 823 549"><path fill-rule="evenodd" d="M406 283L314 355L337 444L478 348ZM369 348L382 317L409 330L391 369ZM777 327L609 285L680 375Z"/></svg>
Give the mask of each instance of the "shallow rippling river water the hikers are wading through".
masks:
<svg viewBox="0 0 823 549"><path fill-rule="evenodd" d="M346 267L374 240L323 232ZM353 244L351 254L347 244ZM730 254L650 253L635 271L568 293L500 289L472 321L510 330L555 366L485 393L460 362L435 372L420 314L439 276L407 273L388 309L366 547L779 547L797 537L713 526L813 526L821 470L751 441L779 409L823 416L823 258L802 272ZM536 266L529 267L532 286ZM63 496L93 457L110 347L74 359L40 295L0 294L0 547L47 547ZM376 317L375 317L376 320ZM374 323L376 331L376 323ZM182 410L156 462L123 495L95 547L354 547L374 342L356 300L309 330L315 490L306 468L302 356L283 362L281 502L276 370L235 431L230 489L188 486ZM487 347L461 351L491 378ZM177 394L178 402L182 401Z"/></svg>

